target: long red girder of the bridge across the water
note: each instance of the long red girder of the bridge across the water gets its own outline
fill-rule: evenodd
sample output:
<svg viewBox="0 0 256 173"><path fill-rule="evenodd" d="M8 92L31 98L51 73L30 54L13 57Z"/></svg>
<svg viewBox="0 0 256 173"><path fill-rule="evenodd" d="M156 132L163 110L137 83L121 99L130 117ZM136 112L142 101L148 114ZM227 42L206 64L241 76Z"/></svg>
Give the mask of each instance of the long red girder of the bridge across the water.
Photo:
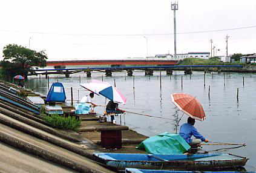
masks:
<svg viewBox="0 0 256 173"><path fill-rule="evenodd" d="M47 61L47 66L71 65L176 65L178 60L166 59L127 59L127 60L57 60Z"/></svg>

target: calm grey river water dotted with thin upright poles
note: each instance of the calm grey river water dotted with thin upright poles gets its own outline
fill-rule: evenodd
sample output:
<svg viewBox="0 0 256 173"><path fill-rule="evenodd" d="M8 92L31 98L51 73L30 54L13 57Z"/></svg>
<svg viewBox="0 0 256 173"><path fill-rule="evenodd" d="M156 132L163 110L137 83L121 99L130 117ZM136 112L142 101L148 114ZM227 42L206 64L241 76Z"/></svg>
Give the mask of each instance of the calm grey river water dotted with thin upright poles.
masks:
<svg viewBox="0 0 256 173"><path fill-rule="evenodd" d="M127 99L126 105L119 105L121 109L166 118L126 113L125 125L148 136L161 132L175 132L175 122L167 120L174 119L177 109L171 102L170 95L180 92L191 94L202 103L206 113L206 120L196 121L195 127L212 142L246 143L246 147L224 152L250 158L246 169L256 171L256 74L207 73L205 77L203 72L197 71L193 71L191 76L183 75L183 71L174 71L172 76L167 76L165 71L162 71L161 77L160 71L154 71L154 76L150 77L145 76L144 71L134 71L133 74L134 77L125 76L125 72L113 73L112 77L102 76L104 73L100 72L93 72L91 78L86 77L86 73L72 74L70 78L50 76L49 85L57 81L62 82L67 100L70 102L71 87L74 100L80 100L89 93L80 87L79 83L90 82L92 79L103 80L113 85L116 83L116 87ZM48 84L44 76L29 78L25 86L47 95ZM106 100L102 96L94 96L93 102L105 105ZM104 108L99 106L95 110L97 113L103 113ZM179 116L182 116L181 112ZM186 119L187 116L183 116L179 124L185 123ZM204 146L203 149L214 150L224 147Z"/></svg>

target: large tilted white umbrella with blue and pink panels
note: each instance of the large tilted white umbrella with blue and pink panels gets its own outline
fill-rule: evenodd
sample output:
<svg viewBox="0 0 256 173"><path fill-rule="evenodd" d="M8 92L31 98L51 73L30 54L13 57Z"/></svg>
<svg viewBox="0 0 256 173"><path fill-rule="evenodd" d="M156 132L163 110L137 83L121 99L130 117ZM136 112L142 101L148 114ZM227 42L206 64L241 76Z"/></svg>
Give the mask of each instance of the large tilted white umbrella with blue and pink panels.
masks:
<svg viewBox="0 0 256 173"><path fill-rule="evenodd" d="M92 80L92 82L83 83L80 86L97 95L107 97L108 99L113 100L113 102L120 104L126 103L125 97L117 90L116 87L110 85L110 83Z"/></svg>

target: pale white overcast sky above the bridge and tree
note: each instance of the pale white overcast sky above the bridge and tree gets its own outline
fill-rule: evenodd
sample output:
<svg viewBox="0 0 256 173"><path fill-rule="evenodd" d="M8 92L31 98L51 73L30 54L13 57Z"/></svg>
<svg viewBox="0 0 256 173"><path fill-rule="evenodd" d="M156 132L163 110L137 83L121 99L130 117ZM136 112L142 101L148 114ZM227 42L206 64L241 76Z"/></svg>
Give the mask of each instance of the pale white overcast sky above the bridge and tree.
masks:
<svg viewBox="0 0 256 173"><path fill-rule="evenodd" d="M227 35L229 54L256 53L255 0L178 2L177 53L210 52L212 39L225 55ZM48 60L174 54L169 0L1 0L0 16L0 56L7 44L45 50Z"/></svg>

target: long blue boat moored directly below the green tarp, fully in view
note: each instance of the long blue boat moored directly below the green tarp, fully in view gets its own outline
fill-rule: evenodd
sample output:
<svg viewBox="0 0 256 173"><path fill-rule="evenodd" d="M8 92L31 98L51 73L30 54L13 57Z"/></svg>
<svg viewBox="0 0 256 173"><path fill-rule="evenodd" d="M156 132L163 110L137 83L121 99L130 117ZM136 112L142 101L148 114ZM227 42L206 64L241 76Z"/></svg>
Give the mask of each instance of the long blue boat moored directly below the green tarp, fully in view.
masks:
<svg viewBox="0 0 256 173"><path fill-rule="evenodd" d="M186 171L211 171L245 166L248 158L232 154L123 154L94 153L97 160L111 168L164 169Z"/></svg>

